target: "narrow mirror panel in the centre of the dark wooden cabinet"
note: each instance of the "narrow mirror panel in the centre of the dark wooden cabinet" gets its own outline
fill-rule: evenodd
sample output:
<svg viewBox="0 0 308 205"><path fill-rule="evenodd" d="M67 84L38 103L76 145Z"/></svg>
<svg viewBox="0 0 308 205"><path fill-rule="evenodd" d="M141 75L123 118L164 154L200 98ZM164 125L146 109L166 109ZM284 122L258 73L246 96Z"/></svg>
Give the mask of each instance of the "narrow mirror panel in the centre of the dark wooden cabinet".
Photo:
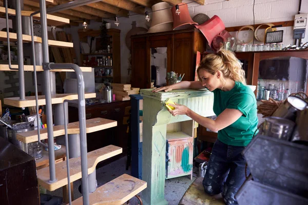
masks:
<svg viewBox="0 0 308 205"><path fill-rule="evenodd" d="M154 87L166 86L167 47L151 48L151 82Z"/></svg>

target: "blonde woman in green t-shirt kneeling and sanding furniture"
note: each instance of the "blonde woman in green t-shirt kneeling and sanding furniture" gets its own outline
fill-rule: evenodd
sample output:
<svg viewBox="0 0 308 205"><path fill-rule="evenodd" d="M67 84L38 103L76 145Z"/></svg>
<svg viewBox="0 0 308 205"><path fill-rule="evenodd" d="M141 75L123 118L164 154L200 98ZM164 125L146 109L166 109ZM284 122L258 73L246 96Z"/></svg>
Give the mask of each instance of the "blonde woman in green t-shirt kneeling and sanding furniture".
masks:
<svg viewBox="0 0 308 205"><path fill-rule="evenodd" d="M170 105L176 109L169 112L173 116L187 115L203 127L218 131L203 179L204 190L213 195L222 193L228 205L238 204L235 194L245 181L246 164L241 152L252 140L258 125L256 97L245 86L245 72L230 51L206 55L197 73L200 81L182 81L153 92L205 87L214 93L216 120L200 116L183 105Z"/></svg>

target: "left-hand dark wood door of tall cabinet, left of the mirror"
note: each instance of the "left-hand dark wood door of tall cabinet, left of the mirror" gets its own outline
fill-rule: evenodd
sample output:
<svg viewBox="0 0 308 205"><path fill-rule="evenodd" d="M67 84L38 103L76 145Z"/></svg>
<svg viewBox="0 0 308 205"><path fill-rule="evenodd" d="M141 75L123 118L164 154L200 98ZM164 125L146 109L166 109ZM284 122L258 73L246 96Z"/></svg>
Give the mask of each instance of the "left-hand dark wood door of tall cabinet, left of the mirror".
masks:
<svg viewBox="0 0 308 205"><path fill-rule="evenodd" d="M131 41L131 87L148 88L150 84L150 70L147 70L147 52L145 39Z"/></svg>

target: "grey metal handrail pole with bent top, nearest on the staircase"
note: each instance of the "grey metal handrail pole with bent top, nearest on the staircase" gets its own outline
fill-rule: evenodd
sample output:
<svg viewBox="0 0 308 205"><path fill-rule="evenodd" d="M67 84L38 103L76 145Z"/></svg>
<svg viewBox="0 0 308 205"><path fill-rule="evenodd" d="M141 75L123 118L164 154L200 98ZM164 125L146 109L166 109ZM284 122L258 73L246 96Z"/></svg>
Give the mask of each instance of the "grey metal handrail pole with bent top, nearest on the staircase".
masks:
<svg viewBox="0 0 308 205"><path fill-rule="evenodd" d="M43 1L43 0L41 0ZM48 69L74 69L78 83L78 118L80 127L80 147L81 147L81 171L82 171L82 193L83 204L89 204L89 184L88 184L88 159L87 159L87 134L86 134L86 103L85 103L85 84L83 73L78 65L75 64L48 64Z"/></svg>

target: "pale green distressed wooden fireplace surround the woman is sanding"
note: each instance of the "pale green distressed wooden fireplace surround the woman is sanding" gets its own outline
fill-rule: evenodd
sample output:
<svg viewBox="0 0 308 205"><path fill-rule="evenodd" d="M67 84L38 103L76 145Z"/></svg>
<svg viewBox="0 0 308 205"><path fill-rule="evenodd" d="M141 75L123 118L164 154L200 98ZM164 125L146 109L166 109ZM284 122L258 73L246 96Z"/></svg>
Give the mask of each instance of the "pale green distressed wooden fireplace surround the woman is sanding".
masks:
<svg viewBox="0 0 308 205"><path fill-rule="evenodd" d="M142 180L147 182L147 189L143 191L142 197L144 204L160 205L168 204L164 198L167 124L191 120L186 115L172 116L164 102L170 98L202 116L212 116L214 95L207 90L158 93L152 93L151 90L140 90L143 96Z"/></svg>

